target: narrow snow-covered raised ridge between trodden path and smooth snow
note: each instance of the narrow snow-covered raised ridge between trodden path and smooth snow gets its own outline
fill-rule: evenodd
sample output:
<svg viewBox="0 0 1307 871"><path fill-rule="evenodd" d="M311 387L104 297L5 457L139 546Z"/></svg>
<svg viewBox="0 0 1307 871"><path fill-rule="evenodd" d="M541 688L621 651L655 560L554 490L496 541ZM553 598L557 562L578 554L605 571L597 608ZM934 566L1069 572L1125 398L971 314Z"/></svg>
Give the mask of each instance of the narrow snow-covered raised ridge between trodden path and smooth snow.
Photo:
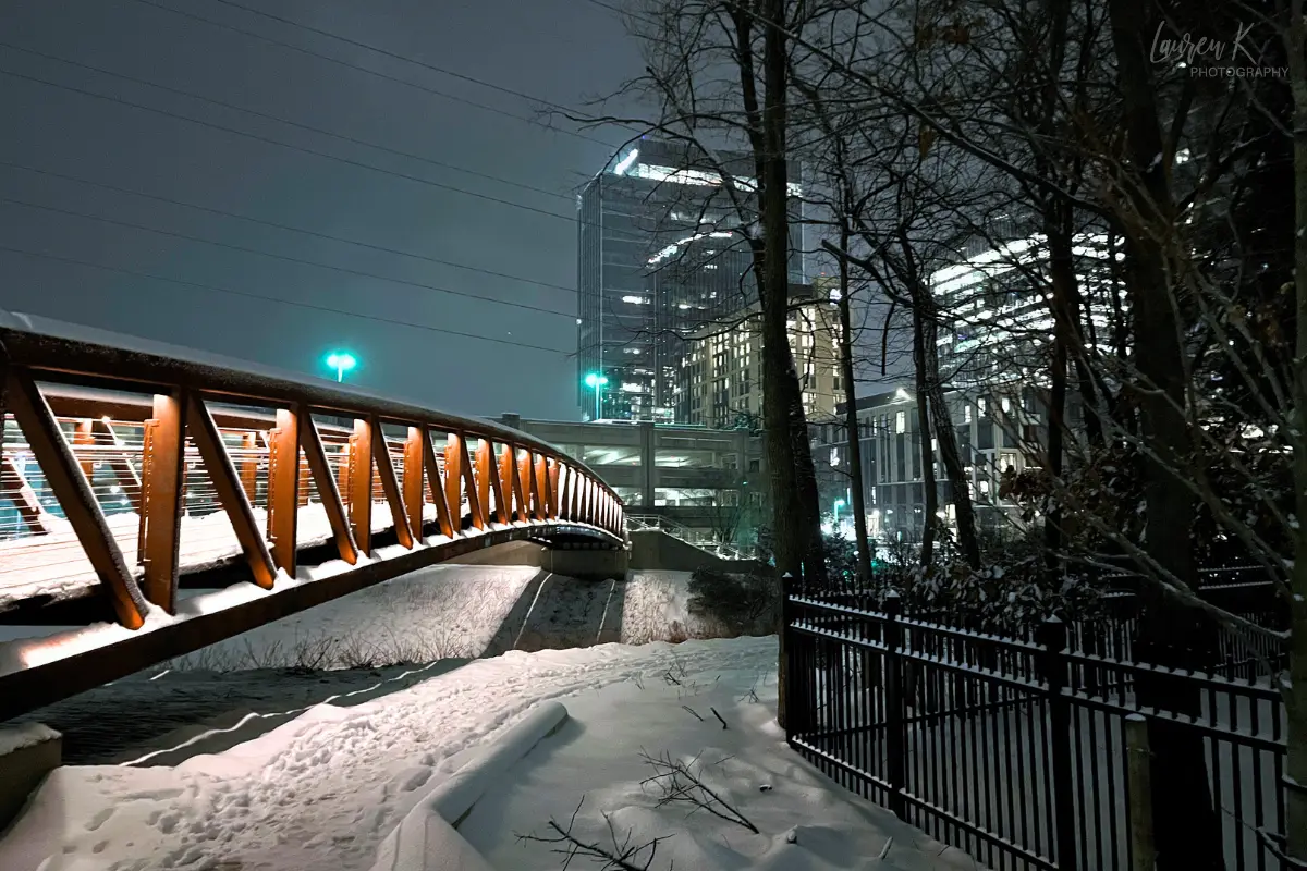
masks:
<svg viewBox="0 0 1307 871"><path fill-rule="evenodd" d="M460 768L409 811L378 850L372 871L491 871L485 859L455 833L456 827L508 768L567 720L557 701L533 708L502 738Z"/></svg>

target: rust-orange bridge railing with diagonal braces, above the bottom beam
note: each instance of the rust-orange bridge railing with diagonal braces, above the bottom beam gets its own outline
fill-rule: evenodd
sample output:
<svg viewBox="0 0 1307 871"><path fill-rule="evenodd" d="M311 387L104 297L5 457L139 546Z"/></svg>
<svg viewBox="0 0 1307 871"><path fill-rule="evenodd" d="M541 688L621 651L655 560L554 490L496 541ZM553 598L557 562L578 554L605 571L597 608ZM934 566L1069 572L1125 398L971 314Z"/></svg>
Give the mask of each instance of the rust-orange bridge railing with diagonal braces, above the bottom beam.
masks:
<svg viewBox="0 0 1307 871"><path fill-rule="evenodd" d="M137 628L231 559L272 589L301 548L356 565L378 533L625 535L591 469L489 420L4 312L0 385L0 610L97 586Z"/></svg>

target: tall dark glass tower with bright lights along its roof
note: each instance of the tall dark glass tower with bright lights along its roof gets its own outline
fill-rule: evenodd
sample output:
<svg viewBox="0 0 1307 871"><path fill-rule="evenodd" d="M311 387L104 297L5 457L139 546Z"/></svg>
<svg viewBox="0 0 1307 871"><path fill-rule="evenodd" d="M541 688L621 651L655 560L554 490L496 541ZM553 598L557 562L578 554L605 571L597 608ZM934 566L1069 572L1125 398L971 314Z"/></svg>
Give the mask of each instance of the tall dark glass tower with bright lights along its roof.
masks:
<svg viewBox="0 0 1307 871"><path fill-rule="evenodd" d="M578 406L586 420L672 422L685 336L757 299L742 229L755 223L753 158L643 138L578 202ZM719 171L724 168L740 202ZM802 282L800 171L791 168L791 281Z"/></svg>

